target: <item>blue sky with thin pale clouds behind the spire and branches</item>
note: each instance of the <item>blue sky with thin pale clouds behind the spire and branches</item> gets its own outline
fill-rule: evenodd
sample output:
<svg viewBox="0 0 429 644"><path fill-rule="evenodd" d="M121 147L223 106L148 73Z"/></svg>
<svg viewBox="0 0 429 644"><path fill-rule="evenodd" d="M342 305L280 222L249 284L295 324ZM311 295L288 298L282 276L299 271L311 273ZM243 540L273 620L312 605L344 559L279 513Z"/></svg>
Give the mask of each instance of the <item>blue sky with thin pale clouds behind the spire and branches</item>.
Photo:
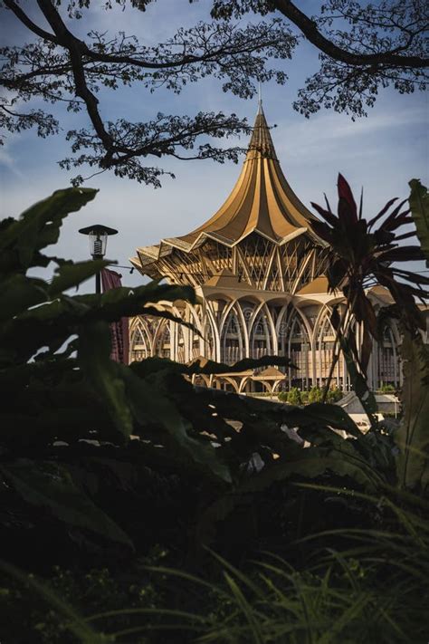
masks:
<svg viewBox="0 0 429 644"><path fill-rule="evenodd" d="M300 2L302 10L314 11L316 0ZM35 3L33 17L43 25ZM145 13L127 6L105 11L102 2L93 2L90 13L84 13L72 29L81 37L93 28L115 34L124 31L135 34L142 43L152 44L172 36L180 26L191 26L198 20L207 20L210 2L200 0L188 5L186 0L158 0ZM9 12L0 27L6 44L23 42L25 29L17 24ZM245 18L243 22L255 17ZM364 187L364 215L373 216L392 197L408 195L408 181L420 178L429 181L428 94L415 92L401 96L388 89L380 91L376 107L369 109L367 118L353 122L349 116L321 110L310 120L292 109L292 101L305 79L317 70L318 53L304 44L293 59L281 62L289 75L286 85L275 82L262 86L263 108L268 123L273 127L272 139L281 168L300 200L323 203L327 193L331 204L336 203L338 171L350 183L358 196ZM166 90L150 94L141 85L131 89L100 92L100 111L106 119L120 117L129 120L149 120L158 111L170 114L195 114L198 111L229 111L247 117L253 123L257 111L257 97L243 101L222 91L222 82L205 79L187 85L180 95ZM34 102L31 107L43 107ZM0 211L1 216L19 216L25 208L49 196L56 189L70 187L74 175L81 169L67 172L58 161L70 154L65 133L71 128L84 127L88 117L69 114L62 106L46 106L58 115L62 132L48 139L38 139L35 132L26 131L8 135L0 148ZM215 139L218 142L218 139ZM248 137L227 139L228 145L245 147ZM49 254L79 261L89 256L87 238L79 228L102 223L119 229L119 235L110 237L108 257L118 264L128 265L136 247L157 244L163 237L185 235L200 226L223 204L234 187L243 159L217 164L214 161L180 161L178 159L150 160L176 175L176 179L161 178L162 187L154 189L127 178L116 178L105 173L85 184L99 193L88 206L68 217L62 226L62 235ZM87 174L91 174L88 171ZM48 268L48 273L52 267ZM137 272L122 271L123 283L142 284ZM91 292L93 284L81 286L81 293Z"/></svg>

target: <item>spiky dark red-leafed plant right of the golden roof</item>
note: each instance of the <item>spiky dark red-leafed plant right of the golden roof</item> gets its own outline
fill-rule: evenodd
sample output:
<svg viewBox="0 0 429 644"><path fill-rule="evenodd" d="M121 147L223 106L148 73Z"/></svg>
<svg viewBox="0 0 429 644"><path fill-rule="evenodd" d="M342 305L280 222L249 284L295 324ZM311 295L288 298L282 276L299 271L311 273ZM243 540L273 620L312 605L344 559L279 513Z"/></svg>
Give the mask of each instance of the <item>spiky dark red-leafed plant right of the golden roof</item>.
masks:
<svg viewBox="0 0 429 644"><path fill-rule="evenodd" d="M424 317L415 297L423 300L428 293L424 286L429 279L421 274L399 268L396 263L424 259L419 245L399 245L415 236L415 232L397 235L405 224L412 224L406 199L388 214L397 201L390 199L380 212L369 219L362 216L362 197L359 209L346 179L338 174L338 214L335 215L325 197L327 209L312 203L324 221L311 224L316 235L329 244L327 277L329 289L341 289L348 309L357 322L363 322L364 347L370 346L369 333L377 338L377 316L367 298L369 284L382 284L391 293L407 325L416 330L424 328ZM377 227L376 227L377 225ZM363 351L362 366L366 368L369 351Z"/></svg>

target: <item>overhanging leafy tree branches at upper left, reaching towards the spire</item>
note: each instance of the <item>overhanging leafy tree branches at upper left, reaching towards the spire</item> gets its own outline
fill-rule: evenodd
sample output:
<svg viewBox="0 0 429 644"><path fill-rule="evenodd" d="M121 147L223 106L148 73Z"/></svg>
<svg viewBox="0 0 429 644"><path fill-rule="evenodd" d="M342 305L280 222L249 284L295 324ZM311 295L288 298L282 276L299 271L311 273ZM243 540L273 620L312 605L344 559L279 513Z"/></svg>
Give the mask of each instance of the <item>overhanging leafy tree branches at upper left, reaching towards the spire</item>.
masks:
<svg viewBox="0 0 429 644"><path fill-rule="evenodd" d="M105 120L97 98L100 89L116 90L140 82L148 91L163 87L180 93L186 84L211 76L223 82L224 91L248 98L253 96L257 79L286 81L285 72L268 62L290 58L297 42L278 18L243 28L228 21L199 23L179 29L156 46L139 43L132 35L108 38L97 31L82 40L64 22L67 7L64 9L61 3L39 0L38 24L30 17L28 7L13 0L3 4L29 29L29 35L37 36L35 42L1 50L1 82L7 90L1 106L5 128L23 130L35 124L41 136L57 132L60 125L52 115L44 119L40 110L20 112L16 107L35 99L62 101L69 111L83 109L91 127L67 133L73 156L63 159L62 167L112 169L119 177L135 178L155 187L160 185L164 170L148 165L148 157L236 161L239 148L224 149L205 138L248 131L245 120L223 112L199 112L195 116L159 112L153 120L135 123L123 118ZM77 18L89 5L71 3L69 14ZM143 5L146 3L139 4L140 8ZM43 19L49 31L39 26ZM75 183L81 180L79 176Z"/></svg>

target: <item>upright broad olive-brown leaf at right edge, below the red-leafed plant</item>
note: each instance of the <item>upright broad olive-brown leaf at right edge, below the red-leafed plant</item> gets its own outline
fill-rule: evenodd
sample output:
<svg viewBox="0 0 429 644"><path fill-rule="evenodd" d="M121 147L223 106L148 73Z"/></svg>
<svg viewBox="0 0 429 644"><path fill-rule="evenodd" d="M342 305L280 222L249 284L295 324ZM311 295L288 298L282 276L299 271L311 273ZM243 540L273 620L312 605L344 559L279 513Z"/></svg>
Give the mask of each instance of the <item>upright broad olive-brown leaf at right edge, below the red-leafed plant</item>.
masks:
<svg viewBox="0 0 429 644"><path fill-rule="evenodd" d="M423 489L429 484L429 350L419 333L404 330L401 346L404 417L396 432L400 485Z"/></svg>

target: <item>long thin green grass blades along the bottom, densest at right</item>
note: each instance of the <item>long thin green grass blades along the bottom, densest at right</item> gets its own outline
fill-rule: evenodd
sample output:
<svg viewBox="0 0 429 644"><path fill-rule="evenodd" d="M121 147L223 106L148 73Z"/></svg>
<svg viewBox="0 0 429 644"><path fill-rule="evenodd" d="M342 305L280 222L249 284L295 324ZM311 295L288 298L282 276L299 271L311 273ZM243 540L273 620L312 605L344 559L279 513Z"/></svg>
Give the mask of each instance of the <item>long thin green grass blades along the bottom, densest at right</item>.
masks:
<svg viewBox="0 0 429 644"><path fill-rule="evenodd" d="M155 585L169 589L167 603L159 599L159 605L148 608L119 607L82 616L70 598L58 597L46 582L33 580L33 591L65 623L74 638L71 641L85 644L426 642L428 505L408 493L375 498L325 486L320 489L360 497L372 506L376 517L377 512L383 514L383 521L377 525L376 518L371 529L348 527L301 539L309 554L300 570L273 553L261 553L256 561L247 562L246 572L211 553L217 567L213 579L184 570L146 567ZM335 549L331 543L336 543ZM15 569L3 568L20 582L26 579ZM115 620L124 616L130 620L126 627L115 628Z"/></svg>

